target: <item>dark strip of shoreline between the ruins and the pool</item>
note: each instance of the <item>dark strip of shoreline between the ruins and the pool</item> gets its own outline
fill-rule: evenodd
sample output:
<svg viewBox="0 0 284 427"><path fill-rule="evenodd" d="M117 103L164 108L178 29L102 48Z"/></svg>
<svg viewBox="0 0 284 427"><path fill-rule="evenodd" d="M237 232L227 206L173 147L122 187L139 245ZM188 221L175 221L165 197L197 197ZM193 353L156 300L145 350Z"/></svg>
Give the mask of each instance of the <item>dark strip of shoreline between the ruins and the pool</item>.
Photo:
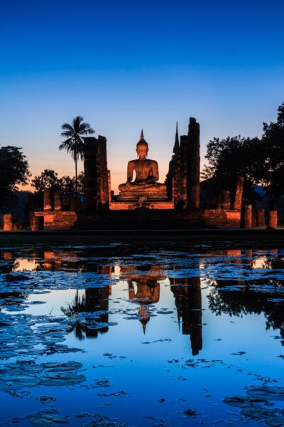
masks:
<svg viewBox="0 0 284 427"><path fill-rule="evenodd" d="M79 243L258 243L271 246L284 243L284 228L275 229L179 229L179 230L76 230L76 231L1 231L5 244L79 244Z"/></svg>

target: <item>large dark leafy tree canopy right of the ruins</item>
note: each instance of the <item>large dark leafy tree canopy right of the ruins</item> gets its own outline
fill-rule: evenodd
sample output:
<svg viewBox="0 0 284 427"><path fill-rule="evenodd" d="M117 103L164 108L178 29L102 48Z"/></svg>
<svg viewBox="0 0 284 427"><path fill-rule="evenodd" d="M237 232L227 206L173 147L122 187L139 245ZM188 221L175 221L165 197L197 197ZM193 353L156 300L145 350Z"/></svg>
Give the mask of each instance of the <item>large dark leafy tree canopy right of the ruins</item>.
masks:
<svg viewBox="0 0 284 427"><path fill-rule="evenodd" d="M272 199L284 189L284 103L278 108L277 122L263 123L261 139L214 138L207 144L207 167L203 179L209 179L216 191L232 189L236 176L245 177L246 196L251 199L252 184L265 186Z"/></svg>

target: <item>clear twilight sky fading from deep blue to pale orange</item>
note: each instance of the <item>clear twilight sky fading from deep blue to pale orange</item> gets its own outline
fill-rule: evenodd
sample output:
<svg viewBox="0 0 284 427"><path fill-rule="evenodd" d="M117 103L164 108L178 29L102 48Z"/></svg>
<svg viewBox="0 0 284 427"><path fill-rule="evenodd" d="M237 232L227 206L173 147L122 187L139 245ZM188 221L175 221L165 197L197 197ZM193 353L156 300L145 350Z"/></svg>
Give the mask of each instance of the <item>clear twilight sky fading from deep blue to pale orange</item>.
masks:
<svg viewBox="0 0 284 427"><path fill-rule="evenodd" d="M202 154L275 120L283 16L283 0L2 1L0 144L23 147L33 174L74 175L60 127L82 115L107 137L116 190L143 127L163 181L176 120L182 135L197 118Z"/></svg>

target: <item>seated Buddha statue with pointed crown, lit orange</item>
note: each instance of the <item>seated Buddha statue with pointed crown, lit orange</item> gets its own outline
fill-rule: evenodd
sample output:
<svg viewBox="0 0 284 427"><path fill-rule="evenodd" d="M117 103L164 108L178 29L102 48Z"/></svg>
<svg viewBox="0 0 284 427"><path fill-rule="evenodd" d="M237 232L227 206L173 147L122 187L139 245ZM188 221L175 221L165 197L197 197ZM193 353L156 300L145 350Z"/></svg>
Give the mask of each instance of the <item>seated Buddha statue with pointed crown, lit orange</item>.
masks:
<svg viewBox="0 0 284 427"><path fill-rule="evenodd" d="M143 130L140 141L136 144L136 152L138 159L131 160L128 163L127 181L125 184L119 185L119 191L121 193L155 193L166 191L166 185L157 182L159 179L158 163L155 160L147 158L148 143L144 139ZM132 181L133 172L136 174L134 181Z"/></svg>

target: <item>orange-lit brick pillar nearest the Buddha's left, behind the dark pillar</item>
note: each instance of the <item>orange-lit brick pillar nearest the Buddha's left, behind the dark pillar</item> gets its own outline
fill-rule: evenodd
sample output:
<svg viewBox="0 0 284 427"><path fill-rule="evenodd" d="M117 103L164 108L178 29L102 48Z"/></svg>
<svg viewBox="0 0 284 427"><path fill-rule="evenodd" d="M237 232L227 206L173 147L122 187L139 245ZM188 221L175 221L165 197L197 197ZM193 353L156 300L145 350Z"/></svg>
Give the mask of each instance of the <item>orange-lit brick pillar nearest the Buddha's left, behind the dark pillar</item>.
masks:
<svg viewBox="0 0 284 427"><path fill-rule="evenodd" d="M107 171L107 138L99 135L97 142L97 165L98 165L98 202L99 207L109 206L109 175Z"/></svg>

